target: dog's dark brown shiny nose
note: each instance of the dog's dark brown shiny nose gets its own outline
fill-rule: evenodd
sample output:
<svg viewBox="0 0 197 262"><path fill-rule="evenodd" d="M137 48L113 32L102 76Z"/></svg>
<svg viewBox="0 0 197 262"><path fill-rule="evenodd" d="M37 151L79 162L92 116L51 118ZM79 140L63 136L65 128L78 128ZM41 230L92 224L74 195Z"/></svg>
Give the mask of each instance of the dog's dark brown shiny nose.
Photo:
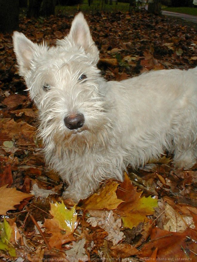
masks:
<svg viewBox="0 0 197 262"><path fill-rule="evenodd" d="M82 127L84 122L85 119L83 114L70 114L64 117L64 124L70 130Z"/></svg>

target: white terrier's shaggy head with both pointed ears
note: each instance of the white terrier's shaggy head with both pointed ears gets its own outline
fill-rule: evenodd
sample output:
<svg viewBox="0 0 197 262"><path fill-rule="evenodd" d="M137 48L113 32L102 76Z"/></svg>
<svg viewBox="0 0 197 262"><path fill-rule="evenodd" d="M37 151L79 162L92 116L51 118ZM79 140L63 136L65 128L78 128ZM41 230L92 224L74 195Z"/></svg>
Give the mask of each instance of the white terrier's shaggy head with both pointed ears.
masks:
<svg viewBox="0 0 197 262"><path fill-rule="evenodd" d="M39 108L45 144L77 141L90 147L90 133L96 139L110 121L105 81L96 67L99 52L83 14L75 17L70 33L55 47L35 44L19 32L14 32L13 44L19 73Z"/></svg>

